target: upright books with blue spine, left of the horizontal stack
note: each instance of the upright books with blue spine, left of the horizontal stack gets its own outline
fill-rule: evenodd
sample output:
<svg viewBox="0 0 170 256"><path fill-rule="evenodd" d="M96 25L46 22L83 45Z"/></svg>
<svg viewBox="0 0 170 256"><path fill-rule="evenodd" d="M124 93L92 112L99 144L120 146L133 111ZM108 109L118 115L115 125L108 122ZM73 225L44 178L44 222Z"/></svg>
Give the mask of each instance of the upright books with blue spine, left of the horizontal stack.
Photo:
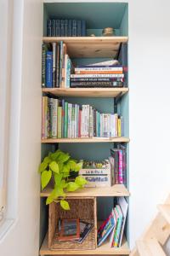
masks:
<svg viewBox="0 0 170 256"><path fill-rule="evenodd" d="M42 44L42 87L70 87L73 66L63 41Z"/></svg>

